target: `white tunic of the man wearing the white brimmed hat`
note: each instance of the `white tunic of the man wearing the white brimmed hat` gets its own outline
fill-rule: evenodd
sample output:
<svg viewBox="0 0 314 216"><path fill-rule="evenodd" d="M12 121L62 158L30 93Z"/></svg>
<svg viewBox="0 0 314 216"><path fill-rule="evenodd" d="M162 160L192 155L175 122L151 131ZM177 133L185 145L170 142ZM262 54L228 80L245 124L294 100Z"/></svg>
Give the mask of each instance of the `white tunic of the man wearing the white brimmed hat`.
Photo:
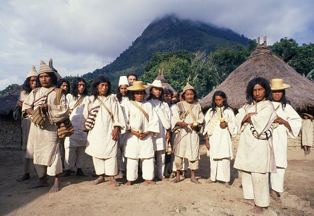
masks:
<svg viewBox="0 0 314 216"><path fill-rule="evenodd" d="M164 150L167 147L166 134L171 128L171 112L166 102L160 102L158 99L150 99L148 101L158 115L159 134L153 137L154 150Z"/></svg>

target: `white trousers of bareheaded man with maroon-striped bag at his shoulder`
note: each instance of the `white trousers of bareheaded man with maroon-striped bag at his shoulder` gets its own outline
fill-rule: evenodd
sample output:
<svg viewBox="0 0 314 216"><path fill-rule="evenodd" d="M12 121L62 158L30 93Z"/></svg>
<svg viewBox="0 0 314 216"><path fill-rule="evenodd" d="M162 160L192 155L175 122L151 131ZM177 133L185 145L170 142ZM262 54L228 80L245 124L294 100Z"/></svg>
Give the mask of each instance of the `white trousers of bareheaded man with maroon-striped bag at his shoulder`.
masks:
<svg viewBox="0 0 314 216"><path fill-rule="evenodd" d="M118 174L117 157L112 158L95 158L93 157L95 172L97 175L115 176Z"/></svg>

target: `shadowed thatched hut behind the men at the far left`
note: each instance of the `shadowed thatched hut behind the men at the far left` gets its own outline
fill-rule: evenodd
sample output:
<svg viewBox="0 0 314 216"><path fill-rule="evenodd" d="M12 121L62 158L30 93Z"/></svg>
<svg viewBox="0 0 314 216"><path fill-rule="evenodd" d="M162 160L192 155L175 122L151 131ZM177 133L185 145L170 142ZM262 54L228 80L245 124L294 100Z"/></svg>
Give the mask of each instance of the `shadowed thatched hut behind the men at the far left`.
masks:
<svg viewBox="0 0 314 216"><path fill-rule="evenodd" d="M52 59L49 61L49 67L55 72L58 79L62 77L58 71L53 68ZM25 74L26 75L26 74ZM16 98L19 97L22 87L19 86L10 92ZM16 122L13 118L13 110L16 105L16 99L9 94L0 97L0 145L2 146L17 146L21 141L20 122Z"/></svg>

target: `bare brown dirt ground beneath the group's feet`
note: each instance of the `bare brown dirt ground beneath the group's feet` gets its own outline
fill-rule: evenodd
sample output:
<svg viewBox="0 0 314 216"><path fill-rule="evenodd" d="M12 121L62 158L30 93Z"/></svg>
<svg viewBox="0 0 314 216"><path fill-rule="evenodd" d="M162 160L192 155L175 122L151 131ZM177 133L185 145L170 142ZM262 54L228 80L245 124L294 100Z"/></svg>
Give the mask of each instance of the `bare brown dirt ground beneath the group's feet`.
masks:
<svg viewBox="0 0 314 216"><path fill-rule="evenodd" d="M314 149L313 149L314 150ZM62 178L61 191L48 193L50 187L29 190L37 181L31 179L17 182L22 174L22 151L20 148L0 148L0 215L252 215L252 206L237 202L242 197L241 172L231 169L231 188L221 183L206 184L209 178L209 158L206 148L200 147L200 169L197 178L203 183L195 185L181 177L181 182L158 181L147 185L138 179L133 186L114 188L105 183L92 185L95 177L80 177L72 173ZM314 215L314 152L304 157L303 151L288 155L282 204L270 201L263 215ZM234 160L231 165L233 166ZM92 158L87 158L87 168L93 171ZM49 177L52 185L53 177ZM116 179L121 184L126 179Z"/></svg>

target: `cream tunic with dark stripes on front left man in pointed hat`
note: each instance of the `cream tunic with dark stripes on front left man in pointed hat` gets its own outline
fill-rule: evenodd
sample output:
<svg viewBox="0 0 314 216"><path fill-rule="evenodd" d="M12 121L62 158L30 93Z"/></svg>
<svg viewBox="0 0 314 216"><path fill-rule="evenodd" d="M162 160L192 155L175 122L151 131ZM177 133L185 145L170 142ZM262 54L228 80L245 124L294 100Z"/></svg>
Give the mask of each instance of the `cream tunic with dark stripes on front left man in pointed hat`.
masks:
<svg viewBox="0 0 314 216"><path fill-rule="evenodd" d="M57 93L53 89L54 87L34 89L24 100L22 107L22 117L27 118L26 110L33 108L35 101L41 101L40 98L50 92L46 101L42 101L34 106L35 110L41 104L47 103L48 114L45 113L46 120L43 126L39 127L31 123L25 155L25 158L34 158L34 164L45 166L52 165L60 145L56 123L67 119L69 113L68 102L63 93L61 94L60 105L55 105Z"/></svg>

